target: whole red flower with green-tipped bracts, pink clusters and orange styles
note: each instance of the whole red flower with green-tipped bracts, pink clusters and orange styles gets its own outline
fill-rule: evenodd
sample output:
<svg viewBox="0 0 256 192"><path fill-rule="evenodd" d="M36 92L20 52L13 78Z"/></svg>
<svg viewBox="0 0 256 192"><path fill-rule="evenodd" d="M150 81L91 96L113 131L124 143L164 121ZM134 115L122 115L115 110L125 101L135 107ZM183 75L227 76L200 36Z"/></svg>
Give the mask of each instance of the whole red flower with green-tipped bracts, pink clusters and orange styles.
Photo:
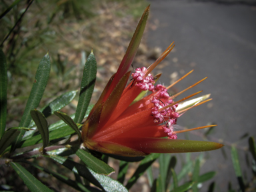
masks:
<svg viewBox="0 0 256 192"><path fill-rule="evenodd" d="M167 92L167 89L192 71L169 87L155 85L155 81L161 75L153 77L151 71L173 49L173 43L150 67L137 68L133 73L127 72L139 47L148 15L149 7L145 9L137 25L117 73L111 77L99 101L83 124L83 145L101 153L127 157L143 156L149 153L183 153L219 149L223 146L220 143L177 139L177 133L215 125L173 130L177 119L185 111L210 100L205 100L209 95L204 95L190 100L189 105L185 103L185 100L201 91L179 101L173 100L177 95L201 83L204 79L176 95L170 96ZM132 79L127 85L130 75Z"/></svg>

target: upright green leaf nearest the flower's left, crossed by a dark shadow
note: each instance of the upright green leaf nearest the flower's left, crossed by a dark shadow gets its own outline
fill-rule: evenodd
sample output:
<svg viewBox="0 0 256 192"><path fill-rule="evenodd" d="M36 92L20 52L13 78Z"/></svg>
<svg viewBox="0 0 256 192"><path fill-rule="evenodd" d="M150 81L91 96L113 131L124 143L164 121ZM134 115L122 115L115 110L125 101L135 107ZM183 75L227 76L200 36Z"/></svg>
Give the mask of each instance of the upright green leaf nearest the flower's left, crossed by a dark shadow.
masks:
<svg viewBox="0 0 256 192"><path fill-rule="evenodd" d="M91 101L91 95L96 81L97 63L93 55L93 51L87 58L85 68L83 69L83 77L81 81L81 91L77 103L77 111L75 111L75 123L81 123L85 117L85 112Z"/></svg>

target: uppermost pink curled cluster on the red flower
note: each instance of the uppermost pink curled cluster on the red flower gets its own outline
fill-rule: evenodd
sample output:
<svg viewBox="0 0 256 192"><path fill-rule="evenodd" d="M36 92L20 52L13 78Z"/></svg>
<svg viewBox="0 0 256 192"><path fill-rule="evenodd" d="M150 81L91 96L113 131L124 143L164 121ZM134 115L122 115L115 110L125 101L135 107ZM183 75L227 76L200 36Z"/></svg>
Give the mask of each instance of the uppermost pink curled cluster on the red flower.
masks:
<svg viewBox="0 0 256 192"><path fill-rule="evenodd" d="M141 88L143 91L153 91L155 86L153 85L155 83L153 76L151 73L147 75L147 77L144 77L147 73L146 67L137 68L135 70L135 73L131 73L131 76L134 79L135 86Z"/></svg>

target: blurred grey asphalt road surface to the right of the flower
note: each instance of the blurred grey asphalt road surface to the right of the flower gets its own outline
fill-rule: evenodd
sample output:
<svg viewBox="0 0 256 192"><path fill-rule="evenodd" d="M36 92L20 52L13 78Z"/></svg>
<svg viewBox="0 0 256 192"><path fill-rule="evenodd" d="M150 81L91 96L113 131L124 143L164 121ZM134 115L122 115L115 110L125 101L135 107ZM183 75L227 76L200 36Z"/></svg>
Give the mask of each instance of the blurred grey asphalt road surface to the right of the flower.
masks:
<svg viewBox="0 0 256 192"><path fill-rule="evenodd" d="M256 136L256 7L185 0L151 0L149 3L150 21L159 23L157 29L147 34L148 45L165 50L175 41L175 50L165 59L169 65L162 69L161 83L169 85L169 76L174 72L181 77L195 69L175 86L181 91L209 77L179 98L203 90L205 94L211 93L213 101L187 112L179 118L178 125L192 128L217 123L212 137L247 147L248 137L238 141L245 133ZM178 137L183 139L184 135L181 133ZM203 140L193 134L189 134L189 139ZM233 188L238 187L230 147L226 145L224 150L227 159L221 150L205 153L209 159L200 171L217 171L215 191L227 191L229 181ZM239 150L239 158L243 174L251 178L243 150ZM203 186L201 191L206 189L207 186Z"/></svg>

